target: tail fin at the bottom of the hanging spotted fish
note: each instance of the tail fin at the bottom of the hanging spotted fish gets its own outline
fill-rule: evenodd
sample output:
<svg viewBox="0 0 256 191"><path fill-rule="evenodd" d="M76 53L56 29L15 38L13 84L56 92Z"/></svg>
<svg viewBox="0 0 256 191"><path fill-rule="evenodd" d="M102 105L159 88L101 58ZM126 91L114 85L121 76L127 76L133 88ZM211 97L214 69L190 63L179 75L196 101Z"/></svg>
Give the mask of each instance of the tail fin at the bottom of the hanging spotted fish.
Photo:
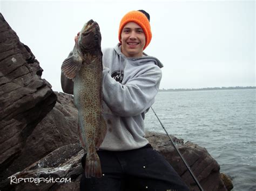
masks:
<svg viewBox="0 0 256 191"><path fill-rule="evenodd" d="M85 177L101 178L102 177L102 167L100 166L99 156L96 152L87 153L85 162Z"/></svg>

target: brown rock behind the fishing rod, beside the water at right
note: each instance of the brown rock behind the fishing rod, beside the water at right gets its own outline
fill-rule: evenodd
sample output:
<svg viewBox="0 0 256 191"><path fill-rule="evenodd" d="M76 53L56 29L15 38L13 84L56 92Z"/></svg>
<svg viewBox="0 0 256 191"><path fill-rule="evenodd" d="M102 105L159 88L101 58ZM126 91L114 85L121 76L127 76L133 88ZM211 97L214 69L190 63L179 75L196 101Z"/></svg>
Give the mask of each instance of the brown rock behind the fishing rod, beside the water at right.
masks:
<svg viewBox="0 0 256 191"><path fill-rule="evenodd" d="M176 146L204 190L227 190L220 177L220 166L207 152L206 148L191 142L184 144L182 140L173 136L171 137L174 143L178 143ZM167 135L163 133L147 132L146 138L151 145L170 162L186 185L190 186L190 190L199 190Z"/></svg>

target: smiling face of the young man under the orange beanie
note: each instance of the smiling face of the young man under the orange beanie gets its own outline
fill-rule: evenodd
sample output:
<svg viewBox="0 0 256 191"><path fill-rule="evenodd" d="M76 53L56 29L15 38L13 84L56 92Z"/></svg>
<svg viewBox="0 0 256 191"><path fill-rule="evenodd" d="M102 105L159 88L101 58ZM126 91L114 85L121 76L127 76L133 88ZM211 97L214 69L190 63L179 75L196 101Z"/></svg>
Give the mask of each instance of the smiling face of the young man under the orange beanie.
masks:
<svg viewBox="0 0 256 191"><path fill-rule="evenodd" d="M146 43L146 37L137 23L127 23L121 33L121 52L126 57L140 57Z"/></svg>

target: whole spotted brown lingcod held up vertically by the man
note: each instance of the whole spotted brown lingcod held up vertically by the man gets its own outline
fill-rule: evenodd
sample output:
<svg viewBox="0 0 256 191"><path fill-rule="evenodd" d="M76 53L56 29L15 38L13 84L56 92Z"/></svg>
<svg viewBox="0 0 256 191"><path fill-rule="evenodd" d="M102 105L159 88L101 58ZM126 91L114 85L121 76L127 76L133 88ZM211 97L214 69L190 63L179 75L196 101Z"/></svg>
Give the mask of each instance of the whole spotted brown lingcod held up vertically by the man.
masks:
<svg viewBox="0 0 256 191"><path fill-rule="evenodd" d="M87 151L86 178L102 177L97 149L106 135L102 115L102 50L99 25L89 20L80 31L73 54L63 61L62 72L74 82L73 95L78 109L78 135Z"/></svg>

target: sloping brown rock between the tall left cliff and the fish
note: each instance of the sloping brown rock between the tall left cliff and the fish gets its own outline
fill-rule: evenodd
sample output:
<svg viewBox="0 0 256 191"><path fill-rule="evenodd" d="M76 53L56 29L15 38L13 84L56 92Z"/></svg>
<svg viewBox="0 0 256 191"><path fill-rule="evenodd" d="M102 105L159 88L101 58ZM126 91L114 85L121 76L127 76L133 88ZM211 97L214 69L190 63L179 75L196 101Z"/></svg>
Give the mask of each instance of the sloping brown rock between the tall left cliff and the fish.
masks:
<svg viewBox="0 0 256 191"><path fill-rule="evenodd" d="M22 152L8 167L6 175L22 171L60 146L78 142L78 111L73 105L73 98L64 93L55 94L57 95L55 107L28 136Z"/></svg>

